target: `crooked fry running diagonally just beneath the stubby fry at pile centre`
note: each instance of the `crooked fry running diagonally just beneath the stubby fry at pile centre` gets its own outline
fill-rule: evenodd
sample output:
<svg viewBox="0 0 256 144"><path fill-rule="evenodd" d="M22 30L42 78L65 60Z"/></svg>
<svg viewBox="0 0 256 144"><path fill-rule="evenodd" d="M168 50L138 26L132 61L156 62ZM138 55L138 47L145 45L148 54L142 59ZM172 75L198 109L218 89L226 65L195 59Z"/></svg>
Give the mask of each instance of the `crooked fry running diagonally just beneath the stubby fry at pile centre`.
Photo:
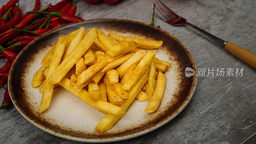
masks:
<svg viewBox="0 0 256 144"><path fill-rule="evenodd" d="M120 83L110 84L106 76L103 76L102 79L107 86L109 86L112 90L114 90L118 94L119 97L123 99L128 98L129 93L128 91L125 91L122 89L122 84Z"/></svg>

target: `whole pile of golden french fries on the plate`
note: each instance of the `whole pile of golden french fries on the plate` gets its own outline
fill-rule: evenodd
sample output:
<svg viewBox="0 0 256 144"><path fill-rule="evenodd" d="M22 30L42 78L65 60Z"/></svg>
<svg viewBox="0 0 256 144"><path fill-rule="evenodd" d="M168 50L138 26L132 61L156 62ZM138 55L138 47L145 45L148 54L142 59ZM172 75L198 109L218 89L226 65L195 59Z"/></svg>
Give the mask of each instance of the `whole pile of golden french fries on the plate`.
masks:
<svg viewBox="0 0 256 144"><path fill-rule="evenodd" d="M85 32L81 27L61 35L33 76L32 87L39 86L43 93L39 112L49 107L52 91L59 85L106 114L95 127L100 133L111 129L135 98L148 100L145 113L155 112L164 95L163 73L171 63L157 59L156 51L150 49L162 44L114 33L106 35L96 28Z"/></svg>

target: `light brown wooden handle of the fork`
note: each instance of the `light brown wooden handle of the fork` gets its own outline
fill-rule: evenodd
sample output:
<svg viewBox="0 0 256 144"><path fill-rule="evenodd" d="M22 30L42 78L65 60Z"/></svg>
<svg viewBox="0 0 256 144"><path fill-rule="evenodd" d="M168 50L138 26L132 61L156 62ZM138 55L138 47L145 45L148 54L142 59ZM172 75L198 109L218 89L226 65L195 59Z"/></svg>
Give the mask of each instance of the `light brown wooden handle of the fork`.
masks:
<svg viewBox="0 0 256 144"><path fill-rule="evenodd" d="M224 46L225 49L235 55L238 59L243 60L245 63L256 69L256 54L252 53L236 44L227 42Z"/></svg>

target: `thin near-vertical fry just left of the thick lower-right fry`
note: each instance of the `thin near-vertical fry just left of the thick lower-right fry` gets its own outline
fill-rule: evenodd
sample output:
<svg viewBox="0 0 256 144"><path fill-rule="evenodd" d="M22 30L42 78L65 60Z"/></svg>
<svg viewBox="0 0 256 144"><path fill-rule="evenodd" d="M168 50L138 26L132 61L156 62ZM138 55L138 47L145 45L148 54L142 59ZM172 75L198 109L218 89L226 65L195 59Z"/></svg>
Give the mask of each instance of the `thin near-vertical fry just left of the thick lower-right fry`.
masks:
<svg viewBox="0 0 256 144"><path fill-rule="evenodd" d="M152 98L153 92L154 92L154 86L156 82L156 64L155 60L153 59L150 66L149 66L149 74L148 74L148 102Z"/></svg>

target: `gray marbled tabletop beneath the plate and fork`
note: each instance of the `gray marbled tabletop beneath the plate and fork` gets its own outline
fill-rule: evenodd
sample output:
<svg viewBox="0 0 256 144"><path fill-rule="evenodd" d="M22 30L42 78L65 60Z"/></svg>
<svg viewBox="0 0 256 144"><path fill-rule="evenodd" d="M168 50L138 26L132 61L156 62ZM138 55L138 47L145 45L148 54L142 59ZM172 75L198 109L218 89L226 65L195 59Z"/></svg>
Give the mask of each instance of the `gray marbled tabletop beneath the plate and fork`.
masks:
<svg viewBox="0 0 256 144"><path fill-rule="evenodd" d="M1 0L6 4L8 0ZM41 0L41 6L59 0ZM85 20L116 18L151 23L150 4L156 0L121 0L117 4L78 2L77 13ZM255 0L162 0L198 27L256 53ZM32 0L20 0L27 12ZM242 77L198 77L188 106L161 128L116 143L241 143L256 132L256 70L211 39L185 26L173 27L157 16L155 24L176 36L192 53L197 68L244 68ZM0 67L6 60L0 59ZM0 89L0 101L4 90ZM3 143L76 143L38 129L14 106L0 110Z"/></svg>

